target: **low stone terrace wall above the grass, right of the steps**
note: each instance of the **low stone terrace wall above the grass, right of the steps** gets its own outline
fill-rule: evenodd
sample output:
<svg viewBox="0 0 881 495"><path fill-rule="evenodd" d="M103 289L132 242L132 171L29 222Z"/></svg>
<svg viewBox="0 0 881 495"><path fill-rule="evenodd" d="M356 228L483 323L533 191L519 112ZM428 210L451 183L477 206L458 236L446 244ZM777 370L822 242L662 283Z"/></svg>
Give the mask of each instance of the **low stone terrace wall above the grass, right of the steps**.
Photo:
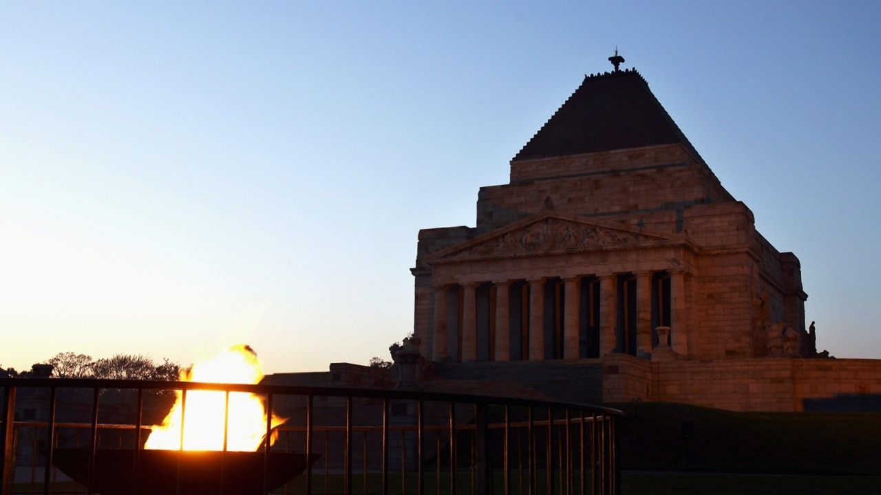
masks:
<svg viewBox="0 0 881 495"><path fill-rule="evenodd" d="M603 402L607 403L644 400L777 412L865 410L865 404L881 405L881 359L647 363L615 355L606 358L603 372Z"/></svg>

